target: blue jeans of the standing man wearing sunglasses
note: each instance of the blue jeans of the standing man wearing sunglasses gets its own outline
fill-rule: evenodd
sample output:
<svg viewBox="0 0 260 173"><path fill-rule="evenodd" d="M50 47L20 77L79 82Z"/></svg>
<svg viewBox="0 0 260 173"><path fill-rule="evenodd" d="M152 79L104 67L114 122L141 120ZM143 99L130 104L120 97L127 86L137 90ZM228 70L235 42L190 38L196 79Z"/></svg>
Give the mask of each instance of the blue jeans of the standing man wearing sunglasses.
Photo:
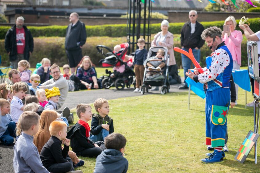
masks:
<svg viewBox="0 0 260 173"><path fill-rule="evenodd" d="M187 52L189 52L188 49L185 49L183 48L182 50L185 50ZM199 60L200 60L200 49L199 50L196 50L195 48L192 49L192 53L193 53L193 56L195 58L195 60L199 63ZM191 68L191 60L186 56L186 55L183 55L181 54L181 61L182 61L182 67L183 67L183 70L184 70L184 84L187 86L188 84L185 82L187 76L185 75L185 73L188 71L188 69ZM193 64L193 67L194 64Z"/></svg>

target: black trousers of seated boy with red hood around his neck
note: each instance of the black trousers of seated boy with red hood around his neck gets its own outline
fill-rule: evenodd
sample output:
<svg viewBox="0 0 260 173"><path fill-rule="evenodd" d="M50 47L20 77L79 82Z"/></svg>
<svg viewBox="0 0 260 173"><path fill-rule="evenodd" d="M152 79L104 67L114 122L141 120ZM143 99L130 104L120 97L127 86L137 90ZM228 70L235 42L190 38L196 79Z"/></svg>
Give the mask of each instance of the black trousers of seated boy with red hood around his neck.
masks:
<svg viewBox="0 0 260 173"><path fill-rule="evenodd" d="M100 146L100 148L99 147L87 148L87 149L84 149L80 152L75 152L76 155L77 156L84 156L84 157L97 157L106 148L105 148L105 144L104 144L103 141L97 141L97 142L95 142L95 144Z"/></svg>

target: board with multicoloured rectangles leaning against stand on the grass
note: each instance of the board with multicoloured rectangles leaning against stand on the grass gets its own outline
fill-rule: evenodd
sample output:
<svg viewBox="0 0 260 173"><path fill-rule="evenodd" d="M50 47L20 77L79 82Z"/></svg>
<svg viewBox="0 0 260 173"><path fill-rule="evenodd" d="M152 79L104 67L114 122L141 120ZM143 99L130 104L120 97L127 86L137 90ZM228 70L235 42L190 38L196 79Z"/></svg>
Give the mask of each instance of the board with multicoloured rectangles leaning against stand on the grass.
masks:
<svg viewBox="0 0 260 173"><path fill-rule="evenodd" d="M235 160L237 160L240 163L244 163L246 157L250 153L258 137L259 135L257 133L254 133L253 131L250 130L245 140L243 141L242 145L238 149L238 152L235 156Z"/></svg>

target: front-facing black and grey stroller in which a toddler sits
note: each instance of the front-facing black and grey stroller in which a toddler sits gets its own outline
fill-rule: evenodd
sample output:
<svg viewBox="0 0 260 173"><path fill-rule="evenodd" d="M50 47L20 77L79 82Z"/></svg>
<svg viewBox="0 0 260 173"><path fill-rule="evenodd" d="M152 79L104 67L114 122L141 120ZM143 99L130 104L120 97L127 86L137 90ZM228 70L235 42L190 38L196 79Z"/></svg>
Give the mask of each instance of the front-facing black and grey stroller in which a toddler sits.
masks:
<svg viewBox="0 0 260 173"><path fill-rule="evenodd" d="M162 47L162 46L152 47L149 49L147 59L149 59L152 56L156 56L156 52L159 49L162 49L164 51L163 61L167 61L167 63L160 71L157 71L157 70L149 71L147 67L144 69L144 79L143 79L143 85L141 88L141 94L144 94L145 90L146 90L146 92L148 92L149 86L151 86L151 87L162 86L161 94L165 94L166 92L169 92L170 83L168 82L168 71L169 71L170 55L167 54L168 49L166 47ZM156 61L156 60L147 60L146 63L148 63L150 61ZM154 75L155 76L154 78L149 76L151 73L156 74L156 75Z"/></svg>

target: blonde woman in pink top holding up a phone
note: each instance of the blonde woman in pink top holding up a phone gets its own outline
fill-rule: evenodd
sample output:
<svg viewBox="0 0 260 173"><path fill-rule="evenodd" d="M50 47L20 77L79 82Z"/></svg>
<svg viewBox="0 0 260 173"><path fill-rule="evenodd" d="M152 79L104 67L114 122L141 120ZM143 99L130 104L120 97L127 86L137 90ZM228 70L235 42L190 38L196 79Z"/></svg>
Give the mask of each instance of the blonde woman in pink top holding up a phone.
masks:
<svg viewBox="0 0 260 173"><path fill-rule="evenodd" d="M237 22L234 16L227 17L223 25L223 32L221 37L232 55L233 69L239 70L241 66L241 42L243 40L243 36L241 31L235 30L236 25ZM238 85L235 84L235 87L238 99Z"/></svg>

